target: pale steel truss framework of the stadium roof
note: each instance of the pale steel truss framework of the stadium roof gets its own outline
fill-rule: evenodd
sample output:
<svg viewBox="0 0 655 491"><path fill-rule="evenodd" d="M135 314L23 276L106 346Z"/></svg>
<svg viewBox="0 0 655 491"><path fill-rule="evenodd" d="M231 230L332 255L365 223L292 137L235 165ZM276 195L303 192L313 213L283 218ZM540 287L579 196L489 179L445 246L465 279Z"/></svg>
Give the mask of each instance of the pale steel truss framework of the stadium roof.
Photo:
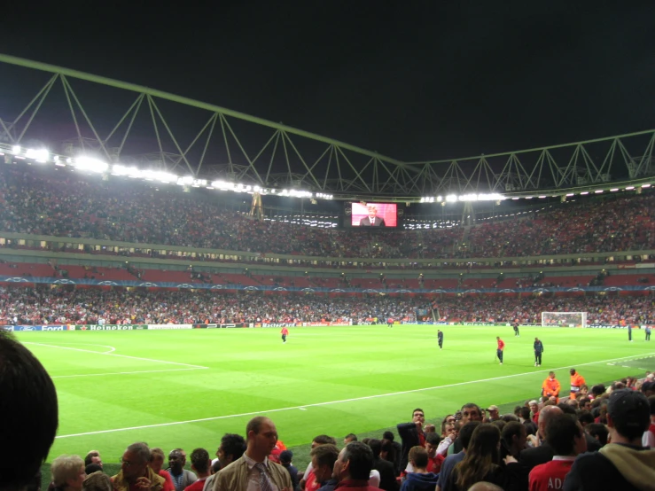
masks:
<svg viewBox="0 0 655 491"><path fill-rule="evenodd" d="M128 82L2 54L0 62L0 80L19 79L29 69L44 75L43 86L22 111L12 117L0 114L0 142L23 144L36 132L29 130L40 113L46 113L47 124L60 124L61 114L53 121L44 109L58 98L66 107L68 124L73 123L68 137L74 137L66 140L63 154L95 152L112 162L208 180L331 193L335 199L410 202L449 193L526 197L610 189L618 183L650 182L655 175L655 129L519 152L406 162ZM112 105L114 122L109 126L111 111L105 107L102 116L92 118L84 105L97 105L98 99L126 101L120 110ZM192 124L177 121L180 105L195 111L192 131Z"/></svg>

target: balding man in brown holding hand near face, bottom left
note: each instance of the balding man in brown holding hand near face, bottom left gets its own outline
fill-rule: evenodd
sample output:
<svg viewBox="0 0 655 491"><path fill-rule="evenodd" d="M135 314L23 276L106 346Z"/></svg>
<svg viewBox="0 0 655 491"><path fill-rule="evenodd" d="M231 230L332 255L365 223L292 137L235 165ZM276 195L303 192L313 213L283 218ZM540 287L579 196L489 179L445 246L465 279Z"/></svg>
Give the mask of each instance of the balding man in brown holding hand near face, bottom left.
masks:
<svg viewBox="0 0 655 491"><path fill-rule="evenodd" d="M132 443L121 457L121 472L113 476L114 491L161 491L166 479L151 467L150 448L144 442Z"/></svg>

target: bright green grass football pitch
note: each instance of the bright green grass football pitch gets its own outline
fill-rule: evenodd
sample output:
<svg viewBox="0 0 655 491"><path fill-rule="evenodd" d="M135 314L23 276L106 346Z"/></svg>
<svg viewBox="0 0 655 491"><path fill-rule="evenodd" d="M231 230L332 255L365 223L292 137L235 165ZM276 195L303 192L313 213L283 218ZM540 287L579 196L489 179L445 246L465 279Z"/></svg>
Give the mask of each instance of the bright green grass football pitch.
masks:
<svg viewBox="0 0 655 491"><path fill-rule="evenodd" d="M100 450L118 462L146 441L168 452L204 447L213 455L224 433L244 434L265 414L287 447L316 434L370 433L428 420L464 402L503 405L535 398L549 370L568 387L575 367L589 386L655 370L655 345L636 332L602 329L397 325L194 331L20 332L58 388L59 430L50 460ZM495 361L501 335L505 362ZM534 336L543 341L534 367ZM47 410L47 409L43 409Z"/></svg>

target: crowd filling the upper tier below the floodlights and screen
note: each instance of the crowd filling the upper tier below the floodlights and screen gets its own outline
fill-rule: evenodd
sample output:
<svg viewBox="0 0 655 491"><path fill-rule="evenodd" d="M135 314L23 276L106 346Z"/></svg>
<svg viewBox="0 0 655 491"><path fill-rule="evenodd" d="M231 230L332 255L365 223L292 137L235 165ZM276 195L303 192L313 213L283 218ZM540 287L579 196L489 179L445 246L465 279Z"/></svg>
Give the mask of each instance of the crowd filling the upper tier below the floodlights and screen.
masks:
<svg viewBox="0 0 655 491"><path fill-rule="evenodd" d="M253 221L174 185L99 181L71 172L4 168L0 231L134 244L333 258L521 257L655 248L655 195L569 203L464 228L330 230Z"/></svg>

